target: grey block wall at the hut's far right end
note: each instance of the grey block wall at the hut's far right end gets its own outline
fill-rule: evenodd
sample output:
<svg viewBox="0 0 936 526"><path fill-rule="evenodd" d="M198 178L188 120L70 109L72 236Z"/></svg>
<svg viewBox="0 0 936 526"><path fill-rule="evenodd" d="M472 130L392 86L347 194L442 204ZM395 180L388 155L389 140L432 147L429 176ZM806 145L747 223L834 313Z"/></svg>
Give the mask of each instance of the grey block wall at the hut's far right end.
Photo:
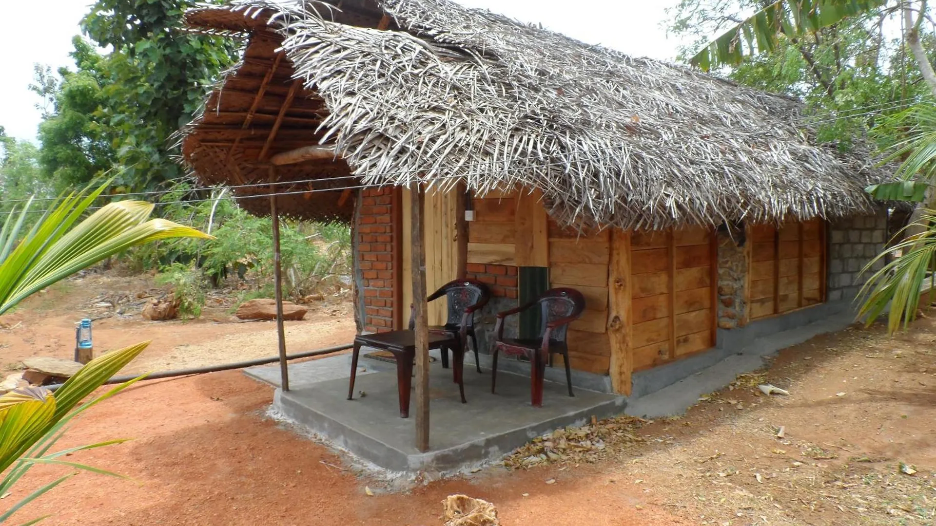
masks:
<svg viewBox="0 0 936 526"><path fill-rule="evenodd" d="M887 232L887 211L881 208L874 215L858 215L837 219L828 227L828 271L826 300L852 300L864 280L861 270L874 256L884 251ZM884 261L874 263L881 270Z"/></svg>

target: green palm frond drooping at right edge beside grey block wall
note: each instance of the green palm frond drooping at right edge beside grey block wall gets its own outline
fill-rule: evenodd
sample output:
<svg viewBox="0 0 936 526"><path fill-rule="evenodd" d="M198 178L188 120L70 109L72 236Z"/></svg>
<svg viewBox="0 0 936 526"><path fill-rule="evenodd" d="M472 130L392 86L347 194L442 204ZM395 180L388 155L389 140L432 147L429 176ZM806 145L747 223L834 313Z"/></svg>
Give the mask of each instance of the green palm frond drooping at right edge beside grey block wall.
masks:
<svg viewBox="0 0 936 526"><path fill-rule="evenodd" d="M932 225L936 222L934 213L936 211L928 210L921 216L920 222ZM910 225L904 229L909 227ZM863 318L866 325L870 325L889 309L887 330L893 333L901 327L906 329L916 318L920 290L928 276L933 256L936 255L936 227L929 226L922 234L900 241L887 250L900 250L903 256L871 274L865 285L862 285L857 296L862 302L858 317ZM870 272L875 262L885 256L886 251L871 260L862 272Z"/></svg>

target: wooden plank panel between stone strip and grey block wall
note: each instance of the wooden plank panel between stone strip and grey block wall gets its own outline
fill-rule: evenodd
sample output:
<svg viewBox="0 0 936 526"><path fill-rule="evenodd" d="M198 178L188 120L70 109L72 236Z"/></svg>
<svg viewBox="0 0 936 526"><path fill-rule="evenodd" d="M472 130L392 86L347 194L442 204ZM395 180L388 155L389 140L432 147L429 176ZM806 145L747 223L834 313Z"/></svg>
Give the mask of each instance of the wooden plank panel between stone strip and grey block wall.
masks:
<svg viewBox="0 0 936 526"><path fill-rule="evenodd" d="M753 225L749 318L757 319L821 303L825 257L822 220Z"/></svg>

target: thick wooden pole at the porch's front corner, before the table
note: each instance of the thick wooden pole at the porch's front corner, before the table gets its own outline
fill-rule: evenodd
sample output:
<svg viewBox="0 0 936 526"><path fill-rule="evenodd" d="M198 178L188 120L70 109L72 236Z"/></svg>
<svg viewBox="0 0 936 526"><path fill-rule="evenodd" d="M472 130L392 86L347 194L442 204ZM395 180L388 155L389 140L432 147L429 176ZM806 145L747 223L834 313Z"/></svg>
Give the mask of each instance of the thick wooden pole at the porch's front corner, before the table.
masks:
<svg viewBox="0 0 936 526"><path fill-rule="evenodd" d="M423 206L426 194L413 191L410 213L413 231L413 314L416 320L416 447L429 450L429 320L426 304L426 245L423 242Z"/></svg>

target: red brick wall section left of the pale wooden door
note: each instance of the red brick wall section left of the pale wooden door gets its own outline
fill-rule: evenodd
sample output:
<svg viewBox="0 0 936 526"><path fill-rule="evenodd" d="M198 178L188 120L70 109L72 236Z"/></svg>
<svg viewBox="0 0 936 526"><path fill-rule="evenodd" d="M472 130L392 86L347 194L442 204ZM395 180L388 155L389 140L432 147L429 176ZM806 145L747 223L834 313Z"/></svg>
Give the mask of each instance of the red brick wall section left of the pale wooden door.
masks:
<svg viewBox="0 0 936 526"><path fill-rule="evenodd" d="M363 329L393 329L393 189L365 188L358 211L358 271Z"/></svg>

